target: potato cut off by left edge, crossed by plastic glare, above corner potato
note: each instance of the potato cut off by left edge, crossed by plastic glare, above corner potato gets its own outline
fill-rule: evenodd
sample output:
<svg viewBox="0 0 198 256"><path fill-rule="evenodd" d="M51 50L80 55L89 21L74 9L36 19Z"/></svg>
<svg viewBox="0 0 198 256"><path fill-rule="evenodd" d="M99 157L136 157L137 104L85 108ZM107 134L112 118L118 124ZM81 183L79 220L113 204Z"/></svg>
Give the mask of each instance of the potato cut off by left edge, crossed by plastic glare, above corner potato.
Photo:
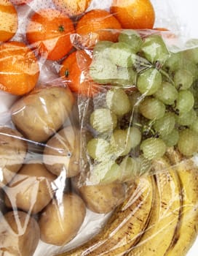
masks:
<svg viewBox="0 0 198 256"><path fill-rule="evenodd" d="M0 127L0 187L7 185L23 165L28 144L20 132Z"/></svg>

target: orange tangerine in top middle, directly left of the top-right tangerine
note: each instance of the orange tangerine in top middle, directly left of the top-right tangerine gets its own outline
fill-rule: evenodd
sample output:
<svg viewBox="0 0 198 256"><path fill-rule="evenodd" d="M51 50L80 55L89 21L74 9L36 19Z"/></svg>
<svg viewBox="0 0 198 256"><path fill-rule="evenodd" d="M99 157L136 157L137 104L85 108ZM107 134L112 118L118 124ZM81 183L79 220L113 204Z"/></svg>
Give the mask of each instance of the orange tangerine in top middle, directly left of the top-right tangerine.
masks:
<svg viewBox="0 0 198 256"><path fill-rule="evenodd" d="M99 9L86 12L76 25L77 34L84 36L96 33L101 41L116 42L118 33L114 29L122 29L119 21L110 12Z"/></svg>

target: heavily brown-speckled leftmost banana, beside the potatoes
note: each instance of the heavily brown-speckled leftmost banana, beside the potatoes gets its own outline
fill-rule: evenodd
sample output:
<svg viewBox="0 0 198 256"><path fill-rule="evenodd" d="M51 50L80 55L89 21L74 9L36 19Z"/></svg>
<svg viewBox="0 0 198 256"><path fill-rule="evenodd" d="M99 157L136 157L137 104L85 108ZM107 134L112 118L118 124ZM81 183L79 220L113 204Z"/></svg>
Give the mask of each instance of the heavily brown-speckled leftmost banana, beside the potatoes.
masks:
<svg viewBox="0 0 198 256"><path fill-rule="evenodd" d="M150 176L138 178L124 203L116 208L100 233L60 256L124 255L138 242L148 224L154 197L154 180Z"/></svg>

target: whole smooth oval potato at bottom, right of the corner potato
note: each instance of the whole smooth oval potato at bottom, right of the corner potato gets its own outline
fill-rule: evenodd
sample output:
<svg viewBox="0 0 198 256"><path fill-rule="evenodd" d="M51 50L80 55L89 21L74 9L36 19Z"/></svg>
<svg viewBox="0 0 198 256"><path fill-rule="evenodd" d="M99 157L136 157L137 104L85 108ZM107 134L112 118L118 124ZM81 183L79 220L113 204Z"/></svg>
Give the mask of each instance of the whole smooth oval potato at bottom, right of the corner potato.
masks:
<svg viewBox="0 0 198 256"><path fill-rule="evenodd" d="M74 193L52 200L39 219L41 240L58 246L67 244L77 235L85 214L82 198Z"/></svg>

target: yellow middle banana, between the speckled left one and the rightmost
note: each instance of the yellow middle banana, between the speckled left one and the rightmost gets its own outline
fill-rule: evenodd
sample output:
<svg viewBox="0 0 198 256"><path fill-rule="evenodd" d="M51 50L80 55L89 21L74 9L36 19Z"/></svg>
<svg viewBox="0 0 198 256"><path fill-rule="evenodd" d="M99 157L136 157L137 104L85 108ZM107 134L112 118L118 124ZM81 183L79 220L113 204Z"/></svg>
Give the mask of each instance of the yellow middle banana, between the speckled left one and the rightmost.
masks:
<svg viewBox="0 0 198 256"><path fill-rule="evenodd" d="M153 163L156 197L151 218L138 244L128 255L162 256L173 240L180 219L181 187L177 173L165 157Z"/></svg>

